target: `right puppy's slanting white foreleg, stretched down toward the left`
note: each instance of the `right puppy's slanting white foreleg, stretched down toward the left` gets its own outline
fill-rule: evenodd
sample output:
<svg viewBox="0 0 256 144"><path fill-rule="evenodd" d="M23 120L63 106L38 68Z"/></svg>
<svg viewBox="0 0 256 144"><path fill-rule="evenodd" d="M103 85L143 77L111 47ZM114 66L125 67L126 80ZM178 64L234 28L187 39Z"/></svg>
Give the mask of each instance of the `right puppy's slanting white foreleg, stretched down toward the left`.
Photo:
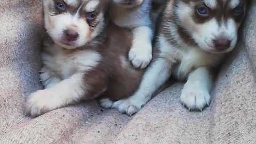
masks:
<svg viewBox="0 0 256 144"><path fill-rule="evenodd" d="M171 63L165 59L158 59L146 70L139 89L130 98L113 103L121 113L133 115L141 109L154 92L162 86L171 75Z"/></svg>

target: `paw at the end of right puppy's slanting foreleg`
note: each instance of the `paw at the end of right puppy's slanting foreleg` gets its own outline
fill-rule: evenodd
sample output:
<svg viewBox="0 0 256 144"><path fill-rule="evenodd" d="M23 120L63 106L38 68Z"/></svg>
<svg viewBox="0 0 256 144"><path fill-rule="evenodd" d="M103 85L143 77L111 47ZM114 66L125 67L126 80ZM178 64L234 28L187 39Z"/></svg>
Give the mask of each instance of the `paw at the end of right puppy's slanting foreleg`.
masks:
<svg viewBox="0 0 256 144"><path fill-rule="evenodd" d="M112 108L116 108L119 112L132 116L137 113L142 106L143 104L141 103L132 102L129 99L123 99L114 102Z"/></svg>

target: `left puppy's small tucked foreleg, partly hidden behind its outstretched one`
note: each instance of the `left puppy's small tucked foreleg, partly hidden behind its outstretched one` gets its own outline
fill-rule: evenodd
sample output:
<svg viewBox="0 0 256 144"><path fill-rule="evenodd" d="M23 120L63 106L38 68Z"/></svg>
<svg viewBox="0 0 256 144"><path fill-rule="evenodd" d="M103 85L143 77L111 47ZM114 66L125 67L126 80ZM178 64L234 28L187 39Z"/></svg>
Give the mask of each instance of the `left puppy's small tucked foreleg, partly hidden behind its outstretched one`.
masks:
<svg viewBox="0 0 256 144"><path fill-rule="evenodd" d="M50 87L54 86L61 82L61 79L49 68L43 67L40 71L40 81L45 89L49 89Z"/></svg>

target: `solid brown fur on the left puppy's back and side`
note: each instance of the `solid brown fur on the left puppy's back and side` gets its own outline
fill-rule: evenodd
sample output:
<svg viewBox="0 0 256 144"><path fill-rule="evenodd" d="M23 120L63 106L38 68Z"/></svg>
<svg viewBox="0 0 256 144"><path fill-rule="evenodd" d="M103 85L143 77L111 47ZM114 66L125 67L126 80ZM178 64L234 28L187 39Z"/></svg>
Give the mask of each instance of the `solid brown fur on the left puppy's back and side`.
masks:
<svg viewBox="0 0 256 144"><path fill-rule="evenodd" d="M99 65L85 74L86 85L90 85L90 94L98 97L100 91L103 97L111 100L118 100L129 97L137 89L143 70L135 69L127 59L131 47L132 35L130 31L119 28L109 23L105 32L106 39L100 47L90 47L95 49L102 56ZM122 67L120 57L124 57L129 64Z"/></svg>

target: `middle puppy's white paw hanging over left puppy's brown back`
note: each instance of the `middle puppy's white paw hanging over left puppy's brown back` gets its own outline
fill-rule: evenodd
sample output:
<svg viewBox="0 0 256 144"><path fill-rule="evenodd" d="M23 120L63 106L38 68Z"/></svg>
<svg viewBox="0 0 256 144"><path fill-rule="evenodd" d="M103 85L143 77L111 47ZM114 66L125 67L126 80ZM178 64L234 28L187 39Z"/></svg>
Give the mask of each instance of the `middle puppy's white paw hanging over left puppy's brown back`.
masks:
<svg viewBox="0 0 256 144"><path fill-rule="evenodd" d="M132 46L129 52L129 60L135 68L146 68L152 59L152 45L141 44Z"/></svg>

